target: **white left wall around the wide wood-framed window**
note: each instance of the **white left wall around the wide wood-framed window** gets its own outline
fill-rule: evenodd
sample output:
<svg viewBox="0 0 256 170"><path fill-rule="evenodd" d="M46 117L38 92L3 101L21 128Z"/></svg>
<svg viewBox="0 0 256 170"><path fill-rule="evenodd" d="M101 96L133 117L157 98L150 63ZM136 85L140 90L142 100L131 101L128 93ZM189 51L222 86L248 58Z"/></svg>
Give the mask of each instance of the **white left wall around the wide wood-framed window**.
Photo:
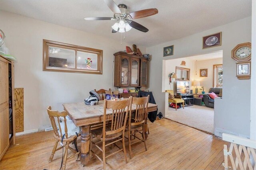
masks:
<svg viewBox="0 0 256 170"><path fill-rule="evenodd" d="M6 46L18 60L15 87L24 88L25 131L50 125L47 106L62 111L63 103L83 102L90 90L112 88L113 54L123 51L127 45L3 11L0 11L0 28L6 35ZM102 49L103 74L42 71L43 39ZM142 53L146 51L144 47L139 48Z"/></svg>

